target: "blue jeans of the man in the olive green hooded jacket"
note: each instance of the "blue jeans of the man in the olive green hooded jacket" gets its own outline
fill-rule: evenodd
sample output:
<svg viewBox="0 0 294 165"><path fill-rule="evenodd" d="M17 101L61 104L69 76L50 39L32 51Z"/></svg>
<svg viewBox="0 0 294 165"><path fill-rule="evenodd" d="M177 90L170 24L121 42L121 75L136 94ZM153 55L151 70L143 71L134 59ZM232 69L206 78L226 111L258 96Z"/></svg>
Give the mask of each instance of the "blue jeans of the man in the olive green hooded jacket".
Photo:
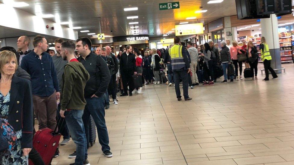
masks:
<svg viewBox="0 0 294 165"><path fill-rule="evenodd" d="M82 120L83 112L83 110L75 109L64 112L71 139L76 144L77 157L75 164L77 165L83 165L84 160L88 157L85 128Z"/></svg>

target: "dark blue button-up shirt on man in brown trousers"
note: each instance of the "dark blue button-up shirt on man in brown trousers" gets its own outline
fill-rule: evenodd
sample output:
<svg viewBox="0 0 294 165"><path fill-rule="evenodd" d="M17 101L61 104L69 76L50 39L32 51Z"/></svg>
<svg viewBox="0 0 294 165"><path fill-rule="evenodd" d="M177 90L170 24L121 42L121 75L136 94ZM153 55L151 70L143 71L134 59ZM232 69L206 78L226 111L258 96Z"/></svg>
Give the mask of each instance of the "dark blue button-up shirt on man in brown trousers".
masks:
<svg viewBox="0 0 294 165"><path fill-rule="evenodd" d="M51 56L43 52L40 60L34 50L25 55L20 67L31 75L33 95L40 97L51 96L59 92L58 80Z"/></svg>

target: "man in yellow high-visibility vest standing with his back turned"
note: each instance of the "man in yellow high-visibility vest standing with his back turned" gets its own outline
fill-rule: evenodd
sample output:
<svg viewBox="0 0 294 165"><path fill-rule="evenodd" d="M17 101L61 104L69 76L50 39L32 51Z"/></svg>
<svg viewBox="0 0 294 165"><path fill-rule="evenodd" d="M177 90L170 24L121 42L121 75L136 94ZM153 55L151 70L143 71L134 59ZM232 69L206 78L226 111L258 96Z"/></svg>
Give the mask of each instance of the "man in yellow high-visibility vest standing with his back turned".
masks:
<svg viewBox="0 0 294 165"><path fill-rule="evenodd" d="M186 53L186 48L180 45L180 38L174 38L174 46L169 48L167 56L170 57L171 67L174 73L175 90L178 101L182 100L180 91L180 80L183 81L183 95L185 101L192 100L188 95L189 79L188 74L190 72L189 58Z"/></svg>

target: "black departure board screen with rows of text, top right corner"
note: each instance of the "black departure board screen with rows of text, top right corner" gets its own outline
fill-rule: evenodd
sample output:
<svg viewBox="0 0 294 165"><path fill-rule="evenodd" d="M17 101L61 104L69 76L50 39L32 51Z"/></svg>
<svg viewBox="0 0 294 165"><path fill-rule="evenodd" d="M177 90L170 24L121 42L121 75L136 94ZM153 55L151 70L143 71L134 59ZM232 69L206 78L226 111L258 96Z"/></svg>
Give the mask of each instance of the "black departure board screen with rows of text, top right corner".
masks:
<svg viewBox="0 0 294 165"><path fill-rule="evenodd" d="M257 15L292 13L291 0L256 0L256 5Z"/></svg>

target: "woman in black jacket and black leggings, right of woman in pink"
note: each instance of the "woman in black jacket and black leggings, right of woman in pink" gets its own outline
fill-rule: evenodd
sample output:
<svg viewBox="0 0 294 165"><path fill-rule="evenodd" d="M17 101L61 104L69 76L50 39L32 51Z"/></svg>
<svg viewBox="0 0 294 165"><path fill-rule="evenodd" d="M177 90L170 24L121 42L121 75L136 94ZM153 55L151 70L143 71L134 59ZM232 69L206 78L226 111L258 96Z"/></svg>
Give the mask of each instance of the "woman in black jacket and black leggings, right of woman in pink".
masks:
<svg viewBox="0 0 294 165"><path fill-rule="evenodd" d="M248 42L247 47L247 55L248 58L251 58L251 60L255 59L254 62L248 61L250 65L251 72L253 73L253 70L255 71L255 77L252 77L252 80L257 80L257 65L258 65L258 54L255 46L252 44L252 41Z"/></svg>

